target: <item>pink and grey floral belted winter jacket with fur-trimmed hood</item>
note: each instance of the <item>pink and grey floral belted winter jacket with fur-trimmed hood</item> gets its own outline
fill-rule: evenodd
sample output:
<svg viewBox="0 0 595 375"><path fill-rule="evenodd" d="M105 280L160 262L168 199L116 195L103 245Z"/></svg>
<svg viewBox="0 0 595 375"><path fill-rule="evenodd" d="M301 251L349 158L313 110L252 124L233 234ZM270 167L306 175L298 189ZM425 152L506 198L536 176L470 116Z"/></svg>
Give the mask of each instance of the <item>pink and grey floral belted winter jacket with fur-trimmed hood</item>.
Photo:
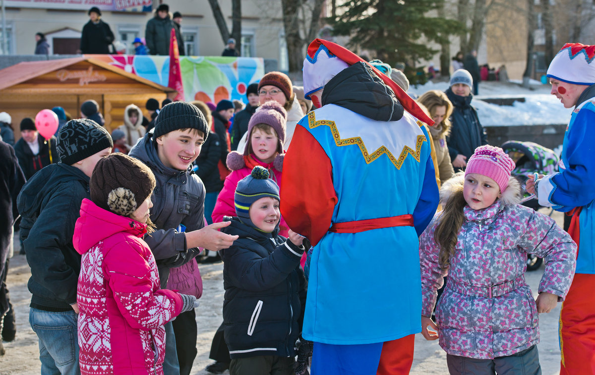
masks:
<svg viewBox="0 0 595 375"><path fill-rule="evenodd" d="M463 176L455 176L443 185L441 197L445 191L462 194L462 185ZM524 279L527 253L545 259L538 292L563 301L570 288L576 244L552 218L515 204L518 193L518 182L510 180L503 197L490 207L465 206L448 272L439 266L434 241L440 212L419 239L423 316L431 316L436 291L448 275L436 308L440 346L447 354L493 359L539 342L537 308Z"/></svg>

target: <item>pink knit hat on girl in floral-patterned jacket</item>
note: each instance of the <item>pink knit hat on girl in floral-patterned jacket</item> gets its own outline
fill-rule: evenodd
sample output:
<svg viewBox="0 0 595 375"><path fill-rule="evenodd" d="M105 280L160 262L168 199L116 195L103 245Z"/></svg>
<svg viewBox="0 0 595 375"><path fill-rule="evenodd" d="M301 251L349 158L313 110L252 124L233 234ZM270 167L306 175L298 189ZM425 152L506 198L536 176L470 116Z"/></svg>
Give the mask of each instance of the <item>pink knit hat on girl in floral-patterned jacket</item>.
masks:
<svg viewBox="0 0 595 375"><path fill-rule="evenodd" d="M496 181L500 192L504 193L513 169L515 169L515 162L504 150L486 144L486 146L477 147L469 157L465 176L470 173L487 176Z"/></svg>

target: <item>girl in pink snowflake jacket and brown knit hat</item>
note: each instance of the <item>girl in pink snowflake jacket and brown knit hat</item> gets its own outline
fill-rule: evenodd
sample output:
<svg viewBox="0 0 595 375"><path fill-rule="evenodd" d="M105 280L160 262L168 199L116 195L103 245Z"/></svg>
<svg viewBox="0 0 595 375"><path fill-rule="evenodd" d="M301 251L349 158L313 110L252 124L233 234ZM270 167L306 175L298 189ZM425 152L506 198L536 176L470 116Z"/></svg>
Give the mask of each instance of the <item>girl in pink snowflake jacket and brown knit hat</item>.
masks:
<svg viewBox="0 0 595 375"><path fill-rule="evenodd" d="M164 324L198 306L196 297L159 288L151 249L142 237L155 176L133 157L100 159L74 228L82 254L79 363L82 374L162 374Z"/></svg>

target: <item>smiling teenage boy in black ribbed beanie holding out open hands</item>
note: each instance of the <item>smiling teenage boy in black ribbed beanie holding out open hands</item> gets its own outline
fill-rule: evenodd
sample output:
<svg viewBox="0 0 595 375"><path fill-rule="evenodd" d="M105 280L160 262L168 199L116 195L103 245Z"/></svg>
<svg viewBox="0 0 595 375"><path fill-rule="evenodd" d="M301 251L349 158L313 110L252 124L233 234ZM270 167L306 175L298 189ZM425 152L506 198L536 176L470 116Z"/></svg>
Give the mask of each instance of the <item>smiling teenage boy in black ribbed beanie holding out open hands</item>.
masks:
<svg viewBox="0 0 595 375"><path fill-rule="evenodd" d="M145 241L157 261L162 288L167 285L170 268L190 261L198 255L199 247L218 251L237 239L218 231L229 223L204 225L205 186L191 166L208 131L205 116L196 106L173 102L161 109L154 130L145 134L129 154L155 174L151 221L156 231L145 236ZM164 374L179 373L171 322L165 324L165 331Z"/></svg>

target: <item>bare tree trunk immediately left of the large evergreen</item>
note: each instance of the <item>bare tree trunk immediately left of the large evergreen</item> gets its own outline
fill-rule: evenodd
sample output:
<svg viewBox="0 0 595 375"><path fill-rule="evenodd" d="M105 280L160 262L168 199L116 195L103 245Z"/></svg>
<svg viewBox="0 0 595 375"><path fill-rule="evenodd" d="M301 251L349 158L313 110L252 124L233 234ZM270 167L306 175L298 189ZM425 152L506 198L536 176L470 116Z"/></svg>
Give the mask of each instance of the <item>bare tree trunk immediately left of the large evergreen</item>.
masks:
<svg viewBox="0 0 595 375"><path fill-rule="evenodd" d="M306 43L314 40L320 30L323 3L324 0L281 0L290 73L298 73L302 70ZM307 14L308 10L310 10L309 14ZM304 30L302 25L307 24L308 16L309 27Z"/></svg>

